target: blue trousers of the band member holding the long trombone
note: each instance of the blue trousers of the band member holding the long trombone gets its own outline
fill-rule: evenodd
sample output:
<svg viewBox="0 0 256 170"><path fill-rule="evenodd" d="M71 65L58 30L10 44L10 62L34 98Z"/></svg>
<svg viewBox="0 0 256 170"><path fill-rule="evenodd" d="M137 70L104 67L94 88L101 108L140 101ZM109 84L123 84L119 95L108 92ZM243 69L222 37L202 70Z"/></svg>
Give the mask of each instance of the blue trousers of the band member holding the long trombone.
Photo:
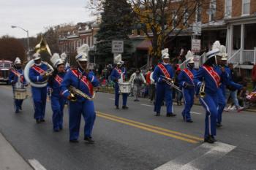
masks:
<svg viewBox="0 0 256 170"><path fill-rule="evenodd" d="M165 84L157 84L156 104L154 105L154 112L160 112L162 101L165 98L167 113L173 113L173 91L170 86Z"/></svg>

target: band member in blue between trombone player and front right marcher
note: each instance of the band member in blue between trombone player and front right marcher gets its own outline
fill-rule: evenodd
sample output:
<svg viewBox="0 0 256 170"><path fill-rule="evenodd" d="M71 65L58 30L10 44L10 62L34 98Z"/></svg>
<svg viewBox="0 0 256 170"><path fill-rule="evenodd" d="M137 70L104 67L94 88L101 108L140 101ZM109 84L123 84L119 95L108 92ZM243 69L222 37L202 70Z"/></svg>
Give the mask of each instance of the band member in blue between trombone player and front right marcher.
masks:
<svg viewBox="0 0 256 170"><path fill-rule="evenodd" d="M180 87L182 89L184 95L184 109L182 111L183 120L187 123L192 123L190 110L194 104L194 96L195 96L195 85L193 82L193 78L195 75L195 62L191 51L187 52L187 69L181 71L178 75L178 81L180 83Z"/></svg>

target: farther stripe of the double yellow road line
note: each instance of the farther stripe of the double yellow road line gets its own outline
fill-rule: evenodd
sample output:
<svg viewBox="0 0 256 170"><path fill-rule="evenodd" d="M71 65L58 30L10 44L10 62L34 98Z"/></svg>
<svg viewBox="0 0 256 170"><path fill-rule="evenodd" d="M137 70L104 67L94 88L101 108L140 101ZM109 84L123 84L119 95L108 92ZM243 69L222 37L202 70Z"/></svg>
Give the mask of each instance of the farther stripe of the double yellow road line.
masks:
<svg viewBox="0 0 256 170"><path fill-rule="evenodd" d="M190 139L195 139L195 140L198 140L198 141L203 141L203 138L199 138L197 136L192 136L192 135L188 135L188 134L182 134L181 132L178 132L178 131L172 131L172 130L169 130L169 129L166 129L166 128L157 127L155 125L148 125L148 124L145 124L145 123L140 123L140 122L137 122L135 120L129 120L129 119L126 119L126 118L123 118L123 117L117 117L117 116L106 114L106 113L99 112L99 111L97 111L97 115L105 115L105 116L113 117L113 118L116 118L116 119L119 119L119 120L124 120L124 121L127 121L129 123L135 123L135 124L138 124L138 125L144 125L144 126L146 126L148 128L154 128L154 129L157 129L159 131L165 131L165 132L168 132L168 133L171 133L171 134L176 134L176 135L184 136L184 137L187 137L187 138L190 138Z"/></svg>

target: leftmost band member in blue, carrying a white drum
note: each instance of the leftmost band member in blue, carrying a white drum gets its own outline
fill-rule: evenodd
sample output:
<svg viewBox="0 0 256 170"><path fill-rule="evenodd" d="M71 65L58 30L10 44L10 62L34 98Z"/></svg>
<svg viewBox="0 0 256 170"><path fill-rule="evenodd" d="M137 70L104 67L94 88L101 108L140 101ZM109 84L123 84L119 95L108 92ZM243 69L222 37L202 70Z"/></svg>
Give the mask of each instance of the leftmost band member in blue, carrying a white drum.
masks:
<svg viewBox="0 0 256 170"><path fill-rule="evenodd" d="M24 86L27 86L20 58L15 59L13 69L10 69L9 82L12 85L13 95L15 88L23 88ZM23 100L14 99L15 113L22 110L22 103Z"/></svg>

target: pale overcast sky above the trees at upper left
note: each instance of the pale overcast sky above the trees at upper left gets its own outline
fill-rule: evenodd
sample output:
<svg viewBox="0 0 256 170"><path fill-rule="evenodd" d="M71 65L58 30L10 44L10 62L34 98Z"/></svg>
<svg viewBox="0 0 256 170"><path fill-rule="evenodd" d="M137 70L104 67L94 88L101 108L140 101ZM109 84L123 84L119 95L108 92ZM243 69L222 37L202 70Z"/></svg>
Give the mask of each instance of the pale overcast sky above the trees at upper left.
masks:
<svg viewBox="0 0 256 170"><path fill-rule="evenodd" d="M48 26L93 20L85 9L88 0L0 0L0 36L36 36Z"/></svg>

